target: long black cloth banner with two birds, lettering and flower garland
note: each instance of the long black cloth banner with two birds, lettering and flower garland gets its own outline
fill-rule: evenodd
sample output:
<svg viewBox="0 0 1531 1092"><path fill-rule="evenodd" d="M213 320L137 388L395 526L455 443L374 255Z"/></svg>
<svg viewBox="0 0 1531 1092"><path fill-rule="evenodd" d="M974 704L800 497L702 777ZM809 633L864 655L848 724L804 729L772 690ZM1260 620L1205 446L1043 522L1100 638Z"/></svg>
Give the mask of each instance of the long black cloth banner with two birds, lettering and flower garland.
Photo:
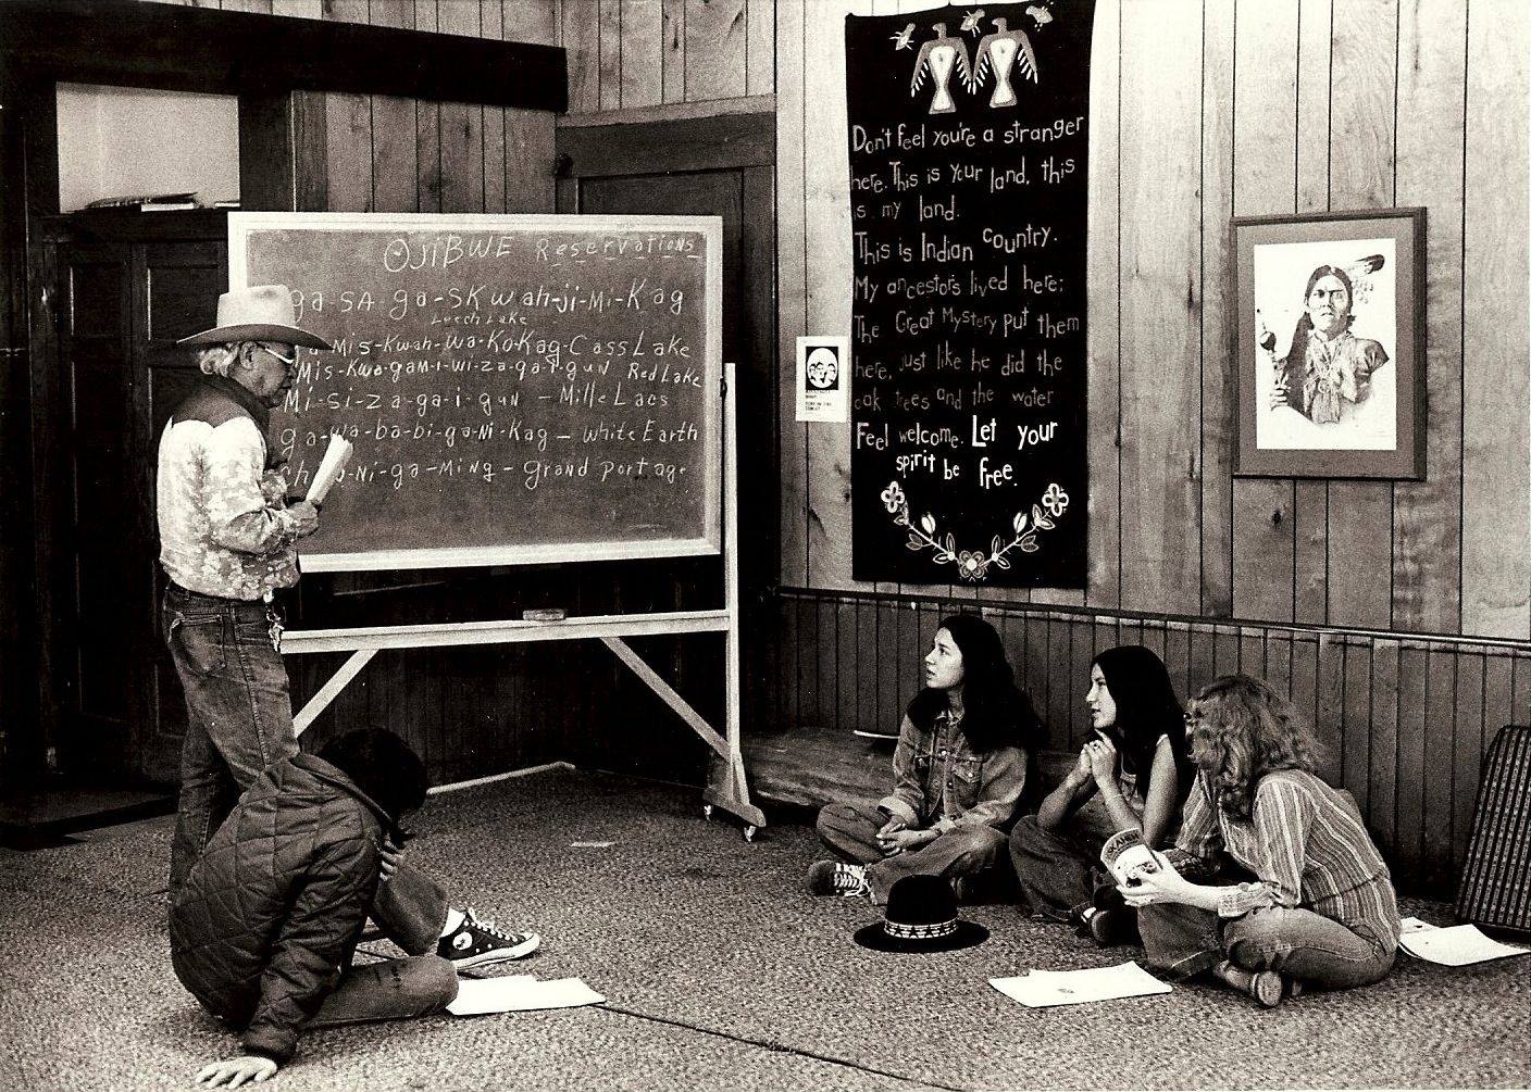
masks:
<svg viewBox="0 0 1531 1092"><path fill-rule="evenodd" d="M1093 18L845 20L856 580L1084 586Z"/></svg>

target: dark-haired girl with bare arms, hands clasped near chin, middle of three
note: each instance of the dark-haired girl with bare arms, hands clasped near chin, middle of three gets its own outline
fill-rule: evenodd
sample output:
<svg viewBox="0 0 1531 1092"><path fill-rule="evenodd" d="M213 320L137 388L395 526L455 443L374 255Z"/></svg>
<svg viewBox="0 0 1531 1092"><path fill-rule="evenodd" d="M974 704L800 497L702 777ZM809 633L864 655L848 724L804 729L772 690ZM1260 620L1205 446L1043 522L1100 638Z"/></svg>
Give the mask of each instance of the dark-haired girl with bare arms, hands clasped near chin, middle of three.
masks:
<svg viewBox="0 0 1531 1092"><path fill-rule="evenodd" d="M1107 648L1090 665L1093 739L1035 815L1010 835L1010 860L1032 912L1070 921L1098 944L1136 934L1136 915L1101 867L1101 847L1118 830L1141 830L1153 849L1168 844L1194 769L1180 699L1150 648Z"/></svg>

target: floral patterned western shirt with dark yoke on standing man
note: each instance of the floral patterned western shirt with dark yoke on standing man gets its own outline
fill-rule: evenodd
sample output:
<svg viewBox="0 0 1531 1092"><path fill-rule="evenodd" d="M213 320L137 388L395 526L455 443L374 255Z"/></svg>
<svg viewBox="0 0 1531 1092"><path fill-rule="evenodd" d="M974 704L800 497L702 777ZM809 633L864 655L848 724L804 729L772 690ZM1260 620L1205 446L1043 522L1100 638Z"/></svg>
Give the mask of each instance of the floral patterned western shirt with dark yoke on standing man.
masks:
<svg viewBox="0 0 1531 1092"><path fill-rule="evenodd" d="M159 437L159 563L188 592L265 600L297 583L286 470L268 465L268 411L208 376Z"/></svg>

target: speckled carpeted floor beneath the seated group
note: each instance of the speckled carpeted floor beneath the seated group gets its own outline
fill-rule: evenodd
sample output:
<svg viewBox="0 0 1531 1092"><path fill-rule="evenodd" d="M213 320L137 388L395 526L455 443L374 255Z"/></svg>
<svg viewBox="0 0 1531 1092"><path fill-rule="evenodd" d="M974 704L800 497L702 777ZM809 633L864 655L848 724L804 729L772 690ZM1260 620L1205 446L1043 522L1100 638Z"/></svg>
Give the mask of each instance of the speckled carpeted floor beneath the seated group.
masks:
<svg viewBox="0 0 1531 1092"><path fill-rule="evenodd" d="M802 893L810 829L772 826L750 844L703 821L697 792L617 777L556 771L435 797L416 827L416 863L544 934L534 957L493 970L577 974L608 1003L314 1032L274 1087L1531 1086L1531 959L1401 957L1378 986L1269 1012L1200 983L1026 1009L986 979L1141 951L1099 951L1007 905L965 907L992 930L975 948L867 951L851 942L877 919L865 901ZM188 1087L236 1052L170 973L168 838L159 818L0 852L0 1084ZM1404 912L1450 924L1436 904Z"/></svg>

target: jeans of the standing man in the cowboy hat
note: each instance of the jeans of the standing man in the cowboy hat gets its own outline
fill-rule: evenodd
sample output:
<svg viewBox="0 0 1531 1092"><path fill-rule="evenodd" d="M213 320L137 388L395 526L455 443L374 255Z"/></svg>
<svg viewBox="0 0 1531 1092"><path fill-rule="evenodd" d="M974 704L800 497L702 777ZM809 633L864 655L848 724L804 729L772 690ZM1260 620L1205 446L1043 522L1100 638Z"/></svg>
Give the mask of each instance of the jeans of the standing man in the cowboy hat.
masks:
<svg viewBox="0 0 1531 1092"><path fill-rule="evenodd" d="M170 584L161 632L187 699L170 896L185 882L239 794L297 754L286 667L271 647L263 603Z"/></svg>

